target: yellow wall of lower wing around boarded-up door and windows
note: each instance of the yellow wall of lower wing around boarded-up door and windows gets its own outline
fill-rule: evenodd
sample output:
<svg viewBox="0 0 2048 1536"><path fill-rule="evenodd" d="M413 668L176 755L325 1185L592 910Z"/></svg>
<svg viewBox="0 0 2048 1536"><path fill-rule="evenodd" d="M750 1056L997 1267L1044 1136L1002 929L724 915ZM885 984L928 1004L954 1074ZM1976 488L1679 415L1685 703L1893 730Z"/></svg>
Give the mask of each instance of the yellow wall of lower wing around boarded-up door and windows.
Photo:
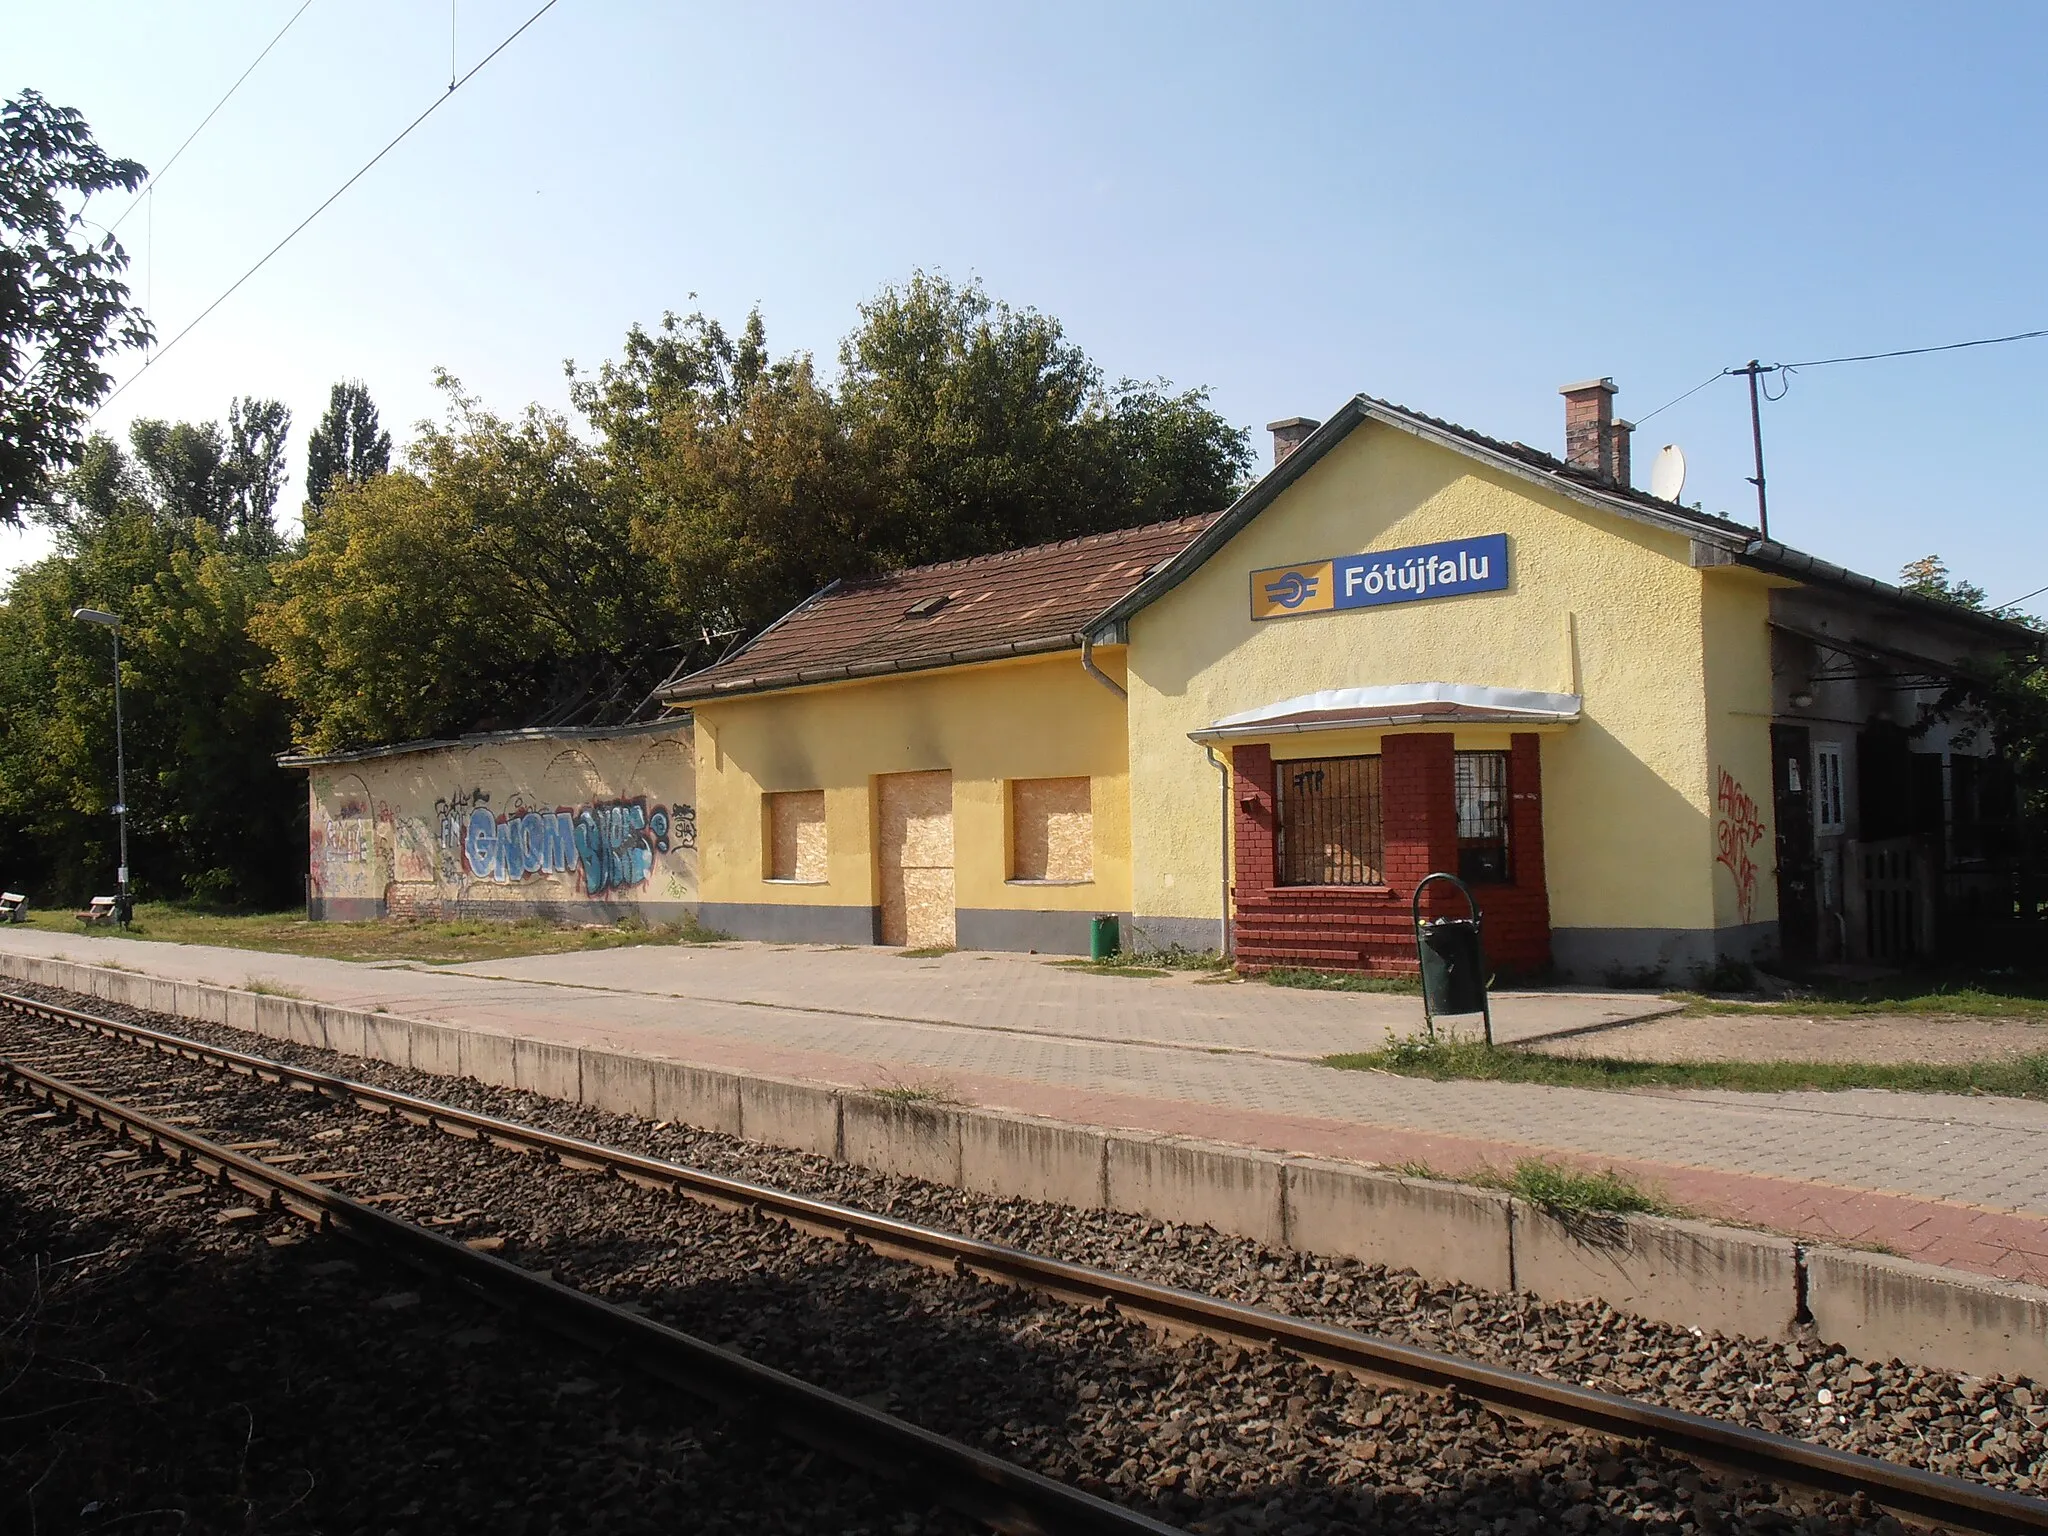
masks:
<svg viewBox="0 0 2048 1536"><path fill-rule="evenodd" d="M1122 653L1098 666L1122 676ZM1077 653L913 672L696 705L702 899L872 907L874 778L952 770L954 901L961 909L1096 911L1130 903L1130 797L1122 702ZM1094 879L1012 883L1008 782L1087 776ZM825 793L819 883L764 879L762 795Z"/></svg>

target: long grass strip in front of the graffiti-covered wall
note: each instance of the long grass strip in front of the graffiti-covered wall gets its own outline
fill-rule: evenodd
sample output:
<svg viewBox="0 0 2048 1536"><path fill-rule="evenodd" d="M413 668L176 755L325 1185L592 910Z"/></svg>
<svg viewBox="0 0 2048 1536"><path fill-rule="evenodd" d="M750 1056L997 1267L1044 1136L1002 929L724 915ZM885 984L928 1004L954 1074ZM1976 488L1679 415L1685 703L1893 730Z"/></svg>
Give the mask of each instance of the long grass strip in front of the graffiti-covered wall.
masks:
<svg viewBox="0 0 2048 1536"><path fill-rule="evenodd" d="M29 926L84 938L141 938L166 944L219 944L272 954L313 954L328 961L414 961L461 965L508 961L522 954L608 950L625 944L715 944L727 934L696 922L649 928L629 918L610 928L571 928L524 918L518 922L428 922L381 918L371 922L315 924L303 911L227 913L182 901L143 901L127 932L80 928L70 911L31 911Z"/></svg>

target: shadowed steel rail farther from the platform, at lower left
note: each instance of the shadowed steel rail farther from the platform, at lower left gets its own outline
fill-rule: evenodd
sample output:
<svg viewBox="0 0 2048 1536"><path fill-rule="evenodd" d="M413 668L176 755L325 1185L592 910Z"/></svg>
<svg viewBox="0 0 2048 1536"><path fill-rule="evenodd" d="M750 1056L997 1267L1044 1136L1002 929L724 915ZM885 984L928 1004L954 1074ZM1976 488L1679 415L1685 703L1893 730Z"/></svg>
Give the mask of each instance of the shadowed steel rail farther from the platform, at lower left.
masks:
<svg viewBox="0 0 2048 1536"><path fill-rule="evenodd" d="M551 1276L479 1253L453 1237L295 1178L12 1057L0 1055L0 1077L57 1110L233 1186L272 1210L287 1210L322 1231L338 1231L424 1274L455 1280L528 1323L707 1399L750 1425L784 1434L901 1485L915 1499L948 1505L999 1532L1180 1536L1176 1526L813 1386Z"/></svg>

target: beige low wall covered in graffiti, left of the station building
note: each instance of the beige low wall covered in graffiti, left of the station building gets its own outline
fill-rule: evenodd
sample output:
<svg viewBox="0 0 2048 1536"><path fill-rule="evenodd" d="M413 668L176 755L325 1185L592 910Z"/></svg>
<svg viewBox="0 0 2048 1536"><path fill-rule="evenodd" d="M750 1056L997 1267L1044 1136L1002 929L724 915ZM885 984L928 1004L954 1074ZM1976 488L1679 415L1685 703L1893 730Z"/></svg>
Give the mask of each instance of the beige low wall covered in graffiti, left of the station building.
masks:
<svg viewBox="0 0 2048 1536"><path fill-rule="evenodd" d="M299 760L307 911L676 922L696 911L688 723Z"/></svg>

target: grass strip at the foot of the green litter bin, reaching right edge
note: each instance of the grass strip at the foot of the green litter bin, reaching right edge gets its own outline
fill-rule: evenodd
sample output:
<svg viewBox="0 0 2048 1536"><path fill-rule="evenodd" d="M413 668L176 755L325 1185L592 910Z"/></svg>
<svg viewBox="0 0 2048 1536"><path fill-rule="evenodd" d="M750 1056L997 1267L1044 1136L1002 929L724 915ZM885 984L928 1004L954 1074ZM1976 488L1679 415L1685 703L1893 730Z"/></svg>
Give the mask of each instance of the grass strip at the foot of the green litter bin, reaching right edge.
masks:
<svg viewBox="0 0 2048 1536"><path fill-rule="evenodd" d="M1901 1061L1624 1061L1620 1057L1546 1057L1485 1040L1405 1038L1380 1051L1323 1057L1325 1067L1391 1071L1450 1081L1477 1077L1550 1087L1722 1087L1739 1094L1841 1092L1888 1087L1901 1094L1995 1094L2048 1100L2048 1053L1956 1065Z"/></svg>

